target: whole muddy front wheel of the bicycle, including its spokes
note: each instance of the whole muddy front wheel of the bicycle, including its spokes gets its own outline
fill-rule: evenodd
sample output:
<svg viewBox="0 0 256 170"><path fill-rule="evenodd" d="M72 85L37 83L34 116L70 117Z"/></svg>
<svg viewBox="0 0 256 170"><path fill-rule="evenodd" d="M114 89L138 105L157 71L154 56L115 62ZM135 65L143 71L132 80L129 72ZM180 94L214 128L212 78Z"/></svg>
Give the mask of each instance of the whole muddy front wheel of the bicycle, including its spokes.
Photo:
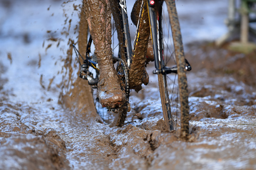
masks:
<svg viewBox="0 0 256 170"><path fill-rule="evenodd" d="M164 0L163 4L162 1L159 1L155 6L155 20L154 22L157 25L159 69L161 70L166 67L177 68L177 74L158 74L164 121L170 130L174 130L177 127L177 119L180 116L180 136L183 139L187 139L189 132L189 107L186 61L175 1ZM150 22L152 22L151 19ZM176 118L175 121L173 117Z"/></svg>

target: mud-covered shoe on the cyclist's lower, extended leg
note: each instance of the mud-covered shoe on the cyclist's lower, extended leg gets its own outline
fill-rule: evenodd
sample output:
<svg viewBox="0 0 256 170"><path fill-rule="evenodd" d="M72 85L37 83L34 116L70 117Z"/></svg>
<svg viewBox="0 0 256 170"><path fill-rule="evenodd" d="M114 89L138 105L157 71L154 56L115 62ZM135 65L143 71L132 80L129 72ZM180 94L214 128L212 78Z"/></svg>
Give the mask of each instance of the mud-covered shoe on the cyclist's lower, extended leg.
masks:
<svg viewBox="0 0 256 170"><path fill-rule="evenodd" d="M121 107L126 102L126 96L120 88L120 84L113 77L99 80L97 96L103 107Z"/></svg>

